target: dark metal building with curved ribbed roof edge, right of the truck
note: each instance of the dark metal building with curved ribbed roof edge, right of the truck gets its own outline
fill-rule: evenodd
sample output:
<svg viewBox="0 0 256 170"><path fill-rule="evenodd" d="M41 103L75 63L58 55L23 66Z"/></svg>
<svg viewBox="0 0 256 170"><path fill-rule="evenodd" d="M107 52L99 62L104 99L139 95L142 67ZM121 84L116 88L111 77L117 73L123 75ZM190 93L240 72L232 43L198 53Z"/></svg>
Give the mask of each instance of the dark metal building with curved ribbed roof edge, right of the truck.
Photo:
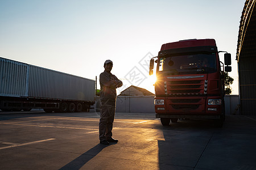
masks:
<svg viewBox="0 0 256 170"><path fill-rule="evenodd" d="M247 17L245 17L247 16ZM241 16L237 60L241 114L256 115L256 6L246 1Z"/></svg>

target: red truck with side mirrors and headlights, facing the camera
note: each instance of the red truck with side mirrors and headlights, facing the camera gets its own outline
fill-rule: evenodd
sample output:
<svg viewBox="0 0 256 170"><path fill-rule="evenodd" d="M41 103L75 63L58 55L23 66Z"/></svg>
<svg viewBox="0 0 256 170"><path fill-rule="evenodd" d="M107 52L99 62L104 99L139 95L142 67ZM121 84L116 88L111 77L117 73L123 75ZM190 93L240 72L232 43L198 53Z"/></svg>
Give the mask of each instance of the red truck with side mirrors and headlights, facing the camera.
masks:
<svg viewBox="0 0 256 170"><path fill-rule="evenodd" d="M156 59L155 113L163 125L178 118L225 120L224 64L214 39L163 44ZM229 53L225 65L231 65ZM154 59L150 62L150 74ZM231 71L230 66L225 71Z"/></svg>

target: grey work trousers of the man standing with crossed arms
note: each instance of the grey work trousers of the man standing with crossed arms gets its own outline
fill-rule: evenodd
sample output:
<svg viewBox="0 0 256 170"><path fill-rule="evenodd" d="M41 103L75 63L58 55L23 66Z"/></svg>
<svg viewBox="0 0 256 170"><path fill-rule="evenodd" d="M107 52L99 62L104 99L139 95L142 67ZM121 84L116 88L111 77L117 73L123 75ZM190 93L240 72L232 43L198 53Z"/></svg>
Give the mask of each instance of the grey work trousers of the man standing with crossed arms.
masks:
<svg viewBox="0 0 256 170"><path fill-rule="evenodd" d="M110 105L101 105L101 118L99 124L100 141L112 138L113 122L115 117L115 107Z"/></svg>

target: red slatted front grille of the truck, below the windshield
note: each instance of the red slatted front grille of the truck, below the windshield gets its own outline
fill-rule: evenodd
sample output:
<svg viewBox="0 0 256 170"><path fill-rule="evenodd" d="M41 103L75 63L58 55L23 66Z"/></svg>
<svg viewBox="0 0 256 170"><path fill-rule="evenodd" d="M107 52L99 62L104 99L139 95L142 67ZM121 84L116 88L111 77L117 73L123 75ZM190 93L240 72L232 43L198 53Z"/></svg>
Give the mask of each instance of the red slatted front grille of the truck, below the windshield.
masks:
<svg viewBox="0 0 256 170"><path fill-rule="evenodd" d="M164 81L168 111L172 113L203 113L207 94L207 75L170 76Z"/></svg>

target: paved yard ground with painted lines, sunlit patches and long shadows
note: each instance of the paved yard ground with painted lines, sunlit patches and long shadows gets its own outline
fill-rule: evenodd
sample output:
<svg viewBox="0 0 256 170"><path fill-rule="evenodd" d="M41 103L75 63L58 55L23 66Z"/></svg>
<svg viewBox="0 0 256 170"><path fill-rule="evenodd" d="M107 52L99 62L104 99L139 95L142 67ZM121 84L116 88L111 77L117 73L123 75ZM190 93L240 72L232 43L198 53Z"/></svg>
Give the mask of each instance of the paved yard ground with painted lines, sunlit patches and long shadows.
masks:
<svg viewBox="0 0 256 170"><path fill-rule="evenodd" d="M116 113L109 146L99 113L0 112L0 169L256 169L256 117L162 126L154 113Z"/></svg>

